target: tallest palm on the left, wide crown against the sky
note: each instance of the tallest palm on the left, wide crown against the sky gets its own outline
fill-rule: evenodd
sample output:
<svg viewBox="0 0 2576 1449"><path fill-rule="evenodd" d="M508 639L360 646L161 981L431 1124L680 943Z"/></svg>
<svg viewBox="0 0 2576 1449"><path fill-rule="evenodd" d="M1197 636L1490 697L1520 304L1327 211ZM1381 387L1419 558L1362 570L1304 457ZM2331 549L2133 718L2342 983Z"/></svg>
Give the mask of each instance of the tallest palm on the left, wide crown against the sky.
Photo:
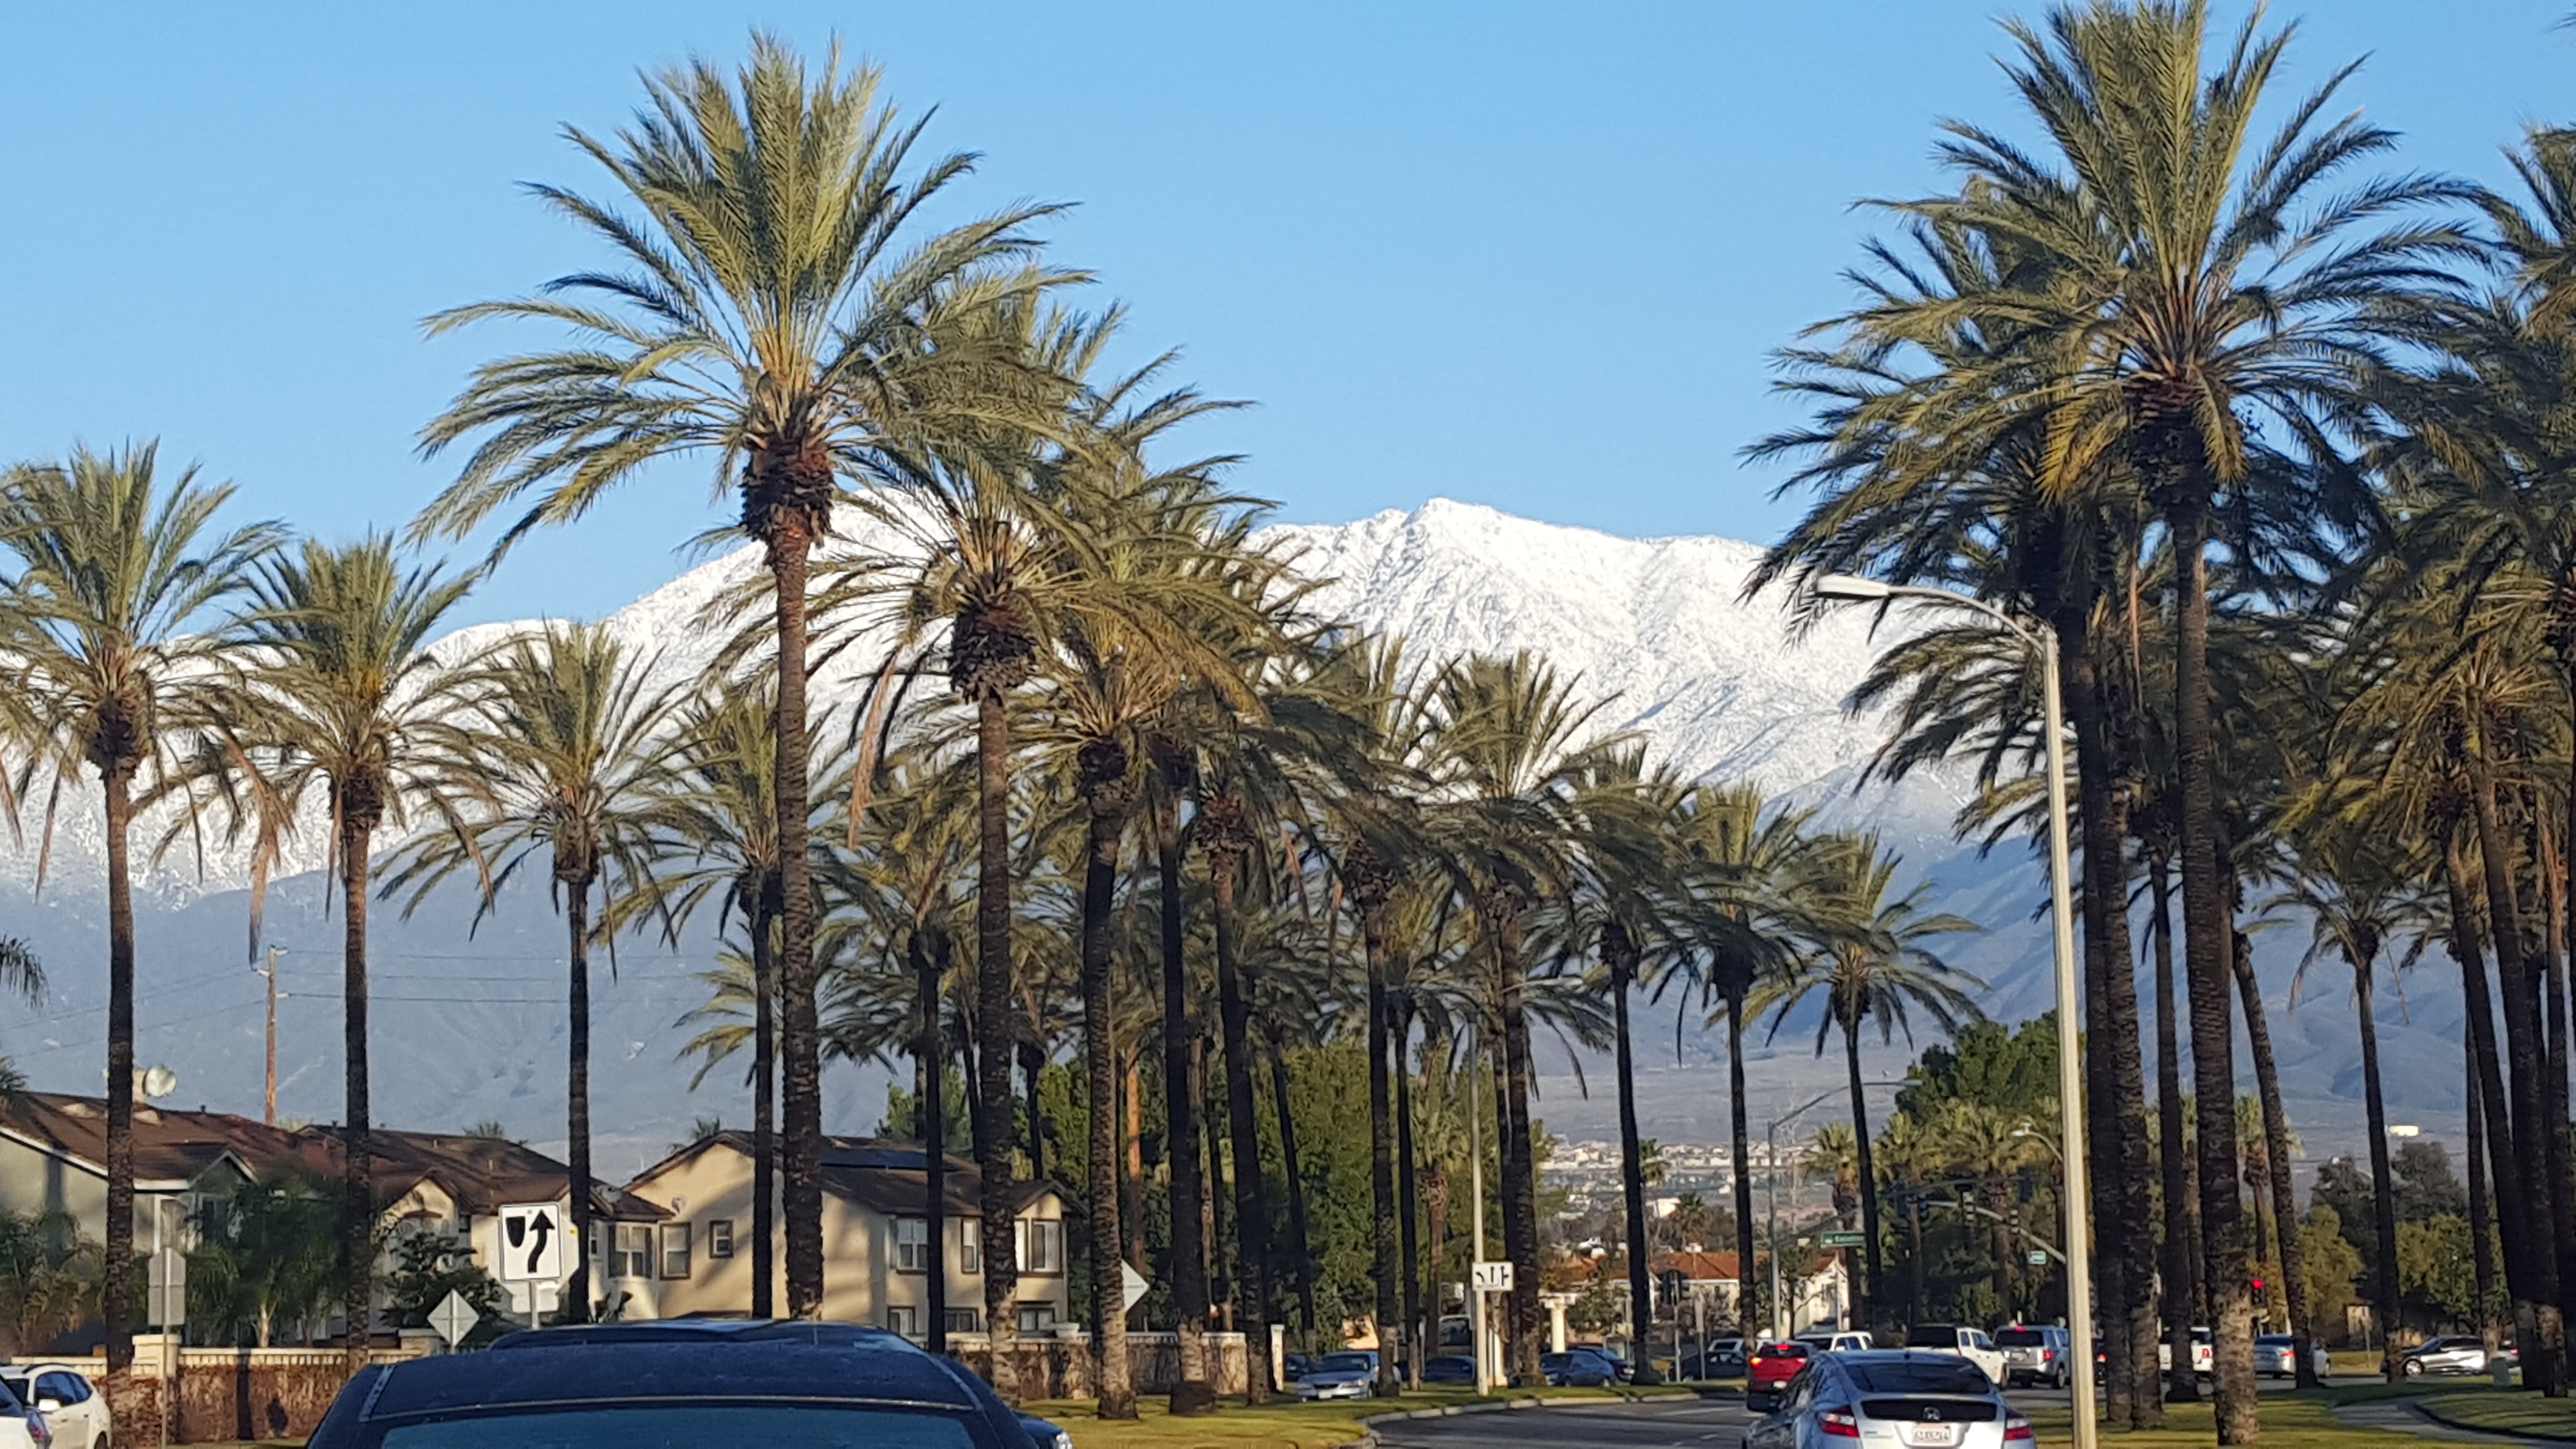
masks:
<svg viewBox="0 0 2576 1449"><path fill-rule="evenodd" d="M1025 227L1051 209L1012 206L922 235L917 211L974 157L907 175L922 121L899 124L878 101L878 70L845 72L837 49L811 75L783 41L755 34L734 77L701 59L649 75L644 90L647 108L613 139L567 129L636 214L536 188L626 271L580 271L538 297L428 320L433 335L482 320L549 322L582 343L484 364L422 428L430 454L482 441L412 531L461 539L538 492L497 554L675 454L711 456L719 490L739 495L739 529L773 578L786 1263L788 1312L811 1318L822 1310L822 1042L806 879L809 562L832 531L842 477L886 477L891 443L989 418L999 389L1015 387L989 353L933 335L961 278L981 278L971 291L984 294L1056 281L989 271L1025 258L1036 248Z"/></svg>

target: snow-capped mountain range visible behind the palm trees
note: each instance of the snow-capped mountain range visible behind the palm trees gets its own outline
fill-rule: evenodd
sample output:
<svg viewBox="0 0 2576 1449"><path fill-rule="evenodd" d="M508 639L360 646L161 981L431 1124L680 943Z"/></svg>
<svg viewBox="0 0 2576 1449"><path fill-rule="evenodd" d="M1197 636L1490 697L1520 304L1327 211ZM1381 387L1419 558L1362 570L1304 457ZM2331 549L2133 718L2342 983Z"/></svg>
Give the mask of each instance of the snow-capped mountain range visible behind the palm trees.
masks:
<svg viewBox="0 0 2576 1449"><path fill-rule="evenodd" d="M894 539L850 521L845 547L884 549ZM1855 719L1842 701L1875 645L1860 614L1793 634L1777 593L1747 601L1754 544L1713 536L1618 539L1512 518L1492 508L1432 500L1414 513L1378 513L1337 526L1280 526L1273 539L1301 554L1311 578L1329 580L1316 601L1355 624L1404 634L1414 657L1461 650L1535 650L1584 694L1605 699L1605 730L1636 730L1685 773L1749 779L1772 794L1816 804L1839 822L1870 822L1906 851L1935 884L1940 905L1989 926L1953 957L1989 982L1986 1008L2017 1021L2048 1008L2045 931L2035 918L2040 871L2027 853L1976 859L1947 835L1958 792L1940 779L1899 789L1855 789L1880 743L1878 719ZM659 652L667 678L693 678L726 647L703 624L711 601L750 580L757 549L711 559L608 616L634 647ZM443 642L466 650L520 627L477 627ZM848 699L855 647L824 670L817 704ZM337 920L325 918L322 830L307 830L289 879L270 895L268 941L289 946L281 969L281 1111L332 1119L340 1106ZM41 1088L95 1091L106 1021L100 957L100 851L95 799L64 799L49 884L31 892L33 833L0 846L0 931L28 936L52 967L41 1011L0 1024L5 1052ZM180 851L155 866L142 902L144 1062L170 1062L178 1098L232 1111L260 1101L260 980L245 962L245 877L234 853ZM562 1122L562 928L541 887L515 892L469 933L471 902L448 895L402 918L381 905L374 920L376 1116L402 1127L464 1127L500 1119L546 1142ZM2285 980L2295 941L2264 941L2267 980ZM677 1049L680 1024L706 993L696 972L711 957L703 928L680 946L621 941L613 980L595 990L595 1101L603 1168L641 1163L688 1134L696 1116L747 1114L739 1078L690 1083ZM605 962L603 962L605 967ZM2339 995L2339 993L2329 993ZM2275 995L2275 1011L2280 1011ZM2285 1085L2311 1152L2354 1140L2352 1029L2339 1000L2311 1000L2275 1021ZM2411 1013L2411 1021L2401 1016ZM1662 1039L1672 1026L1656 1029ZM2445 1036L2447 1031L2447 1036ZM2416 987L2391 1006L2393 1111L2427 1132L2458 1124L2458 987ZM1646 1075L1646 1129L1667 1140L1723 1132L1723 1075L1708 1070L1708 1042L1680 1034L1682 1062ZM1654 1060L1656 1052L1649 1052ZM1662 1057L1672 1057L1662 1049ZM1785 1031L1757 1073L1757 1116L1790 1096L1814 1093L1808 1042ZM1904 1052L1878 1052L1893 1073ZM2447 1062L2447 1065L2445 1065ZM1595 1080L1597 1073L1592 1073ZM1826 1078L1829 1080L1829 1078ZM1546 1116L1574 1134L1597 1134L1600 1114L1574 1075L1551 1078ZM1783 1101L1770 1101L1783 1098ZM884 1104L884 1075L835 1067L827 1111L837 1129L868 1129Z"/></svg>

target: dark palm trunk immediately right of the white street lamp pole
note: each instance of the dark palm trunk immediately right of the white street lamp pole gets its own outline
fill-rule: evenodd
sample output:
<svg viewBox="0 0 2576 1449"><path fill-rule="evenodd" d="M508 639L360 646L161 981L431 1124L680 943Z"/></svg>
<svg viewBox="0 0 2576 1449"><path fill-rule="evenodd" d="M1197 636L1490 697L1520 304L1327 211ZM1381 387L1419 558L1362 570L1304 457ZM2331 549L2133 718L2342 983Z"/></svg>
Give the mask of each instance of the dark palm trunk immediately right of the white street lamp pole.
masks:
<svg viewBox="0 0 2576 1449"><path fill-rule="evenodd" d="M2076 817L2084 830L2084 1067L2094 1222L2148 1222L2154 1194L2146 1147L2146 1065L2138 1055L2138 962L2128 941L2128 815L2112 789L2117 761L2102 709L2089 598L2056 619L2066 714L2076 730ZM2102 1248L2110 1253L2102 1253ZM2156 1392L2156 1238L2117 1232L2094 1240L2107 1258L2094 1274L2102 1323L2105 1410L2128 1428L2164 1426Z"/></svg>

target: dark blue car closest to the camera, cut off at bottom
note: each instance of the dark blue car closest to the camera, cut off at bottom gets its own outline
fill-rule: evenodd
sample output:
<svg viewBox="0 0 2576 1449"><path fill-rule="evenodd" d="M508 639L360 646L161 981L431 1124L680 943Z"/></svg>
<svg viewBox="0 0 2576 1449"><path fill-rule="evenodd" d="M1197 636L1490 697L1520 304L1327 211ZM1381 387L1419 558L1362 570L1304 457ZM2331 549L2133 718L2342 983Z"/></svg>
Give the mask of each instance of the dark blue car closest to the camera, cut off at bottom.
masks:
<svg viewBox="0 0 2576 1449"><path fill-rule="evenodd" d="M1028 1449L984 1379L881 1328L665 1320L510 1333L492 1354L358 1369L314 1449L513 1444L951 1444Z"/></svg>

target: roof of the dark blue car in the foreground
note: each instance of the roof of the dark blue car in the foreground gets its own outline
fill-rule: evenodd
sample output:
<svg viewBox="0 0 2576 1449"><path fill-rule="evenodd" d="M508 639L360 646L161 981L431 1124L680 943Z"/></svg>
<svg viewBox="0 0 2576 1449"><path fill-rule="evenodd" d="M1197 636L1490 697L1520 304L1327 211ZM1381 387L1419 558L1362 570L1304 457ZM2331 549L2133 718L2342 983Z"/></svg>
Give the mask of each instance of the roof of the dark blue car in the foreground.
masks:
<svg viewBox="0 0 2576 1449"><path fill-rule="evenodd" d="M358 1392L350 1382L348 1392ZM518 1403L799 1397L984 1413L951 1359L850 1323L665 1320L536 1328L487 1354L440 1354L376 1372L358 1421Z"/></svg>

